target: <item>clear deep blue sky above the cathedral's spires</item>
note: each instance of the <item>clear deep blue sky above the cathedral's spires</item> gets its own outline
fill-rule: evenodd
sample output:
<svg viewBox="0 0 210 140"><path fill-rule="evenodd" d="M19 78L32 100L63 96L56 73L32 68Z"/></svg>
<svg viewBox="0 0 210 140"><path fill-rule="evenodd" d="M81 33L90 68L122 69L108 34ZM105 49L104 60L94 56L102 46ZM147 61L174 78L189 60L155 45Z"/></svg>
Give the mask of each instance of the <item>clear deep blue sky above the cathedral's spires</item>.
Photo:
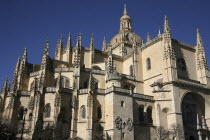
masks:
<svg viewBox="0 0 210 140"><path fill-rule="evenodd" d="M118 33L123 13L123 0L0 0L0 86L5 76L12 80L18 56L28 49L28 62L39 64L45 41L50 41L54 57L56 41L64 42L71 32L73 45L81 32L83 46L89 46L95 35L96 48L101 49ZM133 29L146 40L147 32L156 37L163 30L164 15L169 18L172 37L195 45L196 28L203 37L210 62L209 0L127 0Z"/></svg>

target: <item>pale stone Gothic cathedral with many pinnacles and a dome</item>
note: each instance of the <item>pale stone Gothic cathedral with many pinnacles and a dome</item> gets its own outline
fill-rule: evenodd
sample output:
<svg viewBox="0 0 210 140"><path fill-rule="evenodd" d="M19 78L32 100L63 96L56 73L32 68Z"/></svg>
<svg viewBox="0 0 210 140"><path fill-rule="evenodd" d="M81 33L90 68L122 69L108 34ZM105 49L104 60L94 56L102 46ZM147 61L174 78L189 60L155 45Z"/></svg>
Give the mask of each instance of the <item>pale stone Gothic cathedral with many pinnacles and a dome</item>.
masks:
<svg viewBox="0 0 210 140"><path fill-rule="evenodd" d="M0 121L23 126L27 140L40 120L43 128L59 126L60 140L159 140L157 128L173 126L182 129L176 140L209 140L210 72L201 34L189 45L171 37L167 17L163 24L163 33L143 41L124 7L119 33L104 38L101 50L94 35L84 47L81 34L75 46L71 35L67 43L61 37L54 58L47 40L40 64L31 64L25 49L11 88L7 79L2 87Z"/></svg>

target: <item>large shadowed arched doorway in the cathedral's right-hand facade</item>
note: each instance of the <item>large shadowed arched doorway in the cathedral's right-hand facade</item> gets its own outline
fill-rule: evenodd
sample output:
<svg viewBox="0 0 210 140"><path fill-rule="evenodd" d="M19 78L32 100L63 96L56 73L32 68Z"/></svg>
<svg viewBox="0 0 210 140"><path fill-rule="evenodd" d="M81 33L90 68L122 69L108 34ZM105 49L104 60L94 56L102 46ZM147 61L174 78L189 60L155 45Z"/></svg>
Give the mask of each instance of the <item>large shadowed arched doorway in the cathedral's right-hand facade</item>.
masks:
<svg viewBox="0 0 210 140"><path fill-rule="evenodd" d="M182 100L182 119L186 140L197 140L197 128L205 116L205 99L198 93L187 93Z"/></svg>

